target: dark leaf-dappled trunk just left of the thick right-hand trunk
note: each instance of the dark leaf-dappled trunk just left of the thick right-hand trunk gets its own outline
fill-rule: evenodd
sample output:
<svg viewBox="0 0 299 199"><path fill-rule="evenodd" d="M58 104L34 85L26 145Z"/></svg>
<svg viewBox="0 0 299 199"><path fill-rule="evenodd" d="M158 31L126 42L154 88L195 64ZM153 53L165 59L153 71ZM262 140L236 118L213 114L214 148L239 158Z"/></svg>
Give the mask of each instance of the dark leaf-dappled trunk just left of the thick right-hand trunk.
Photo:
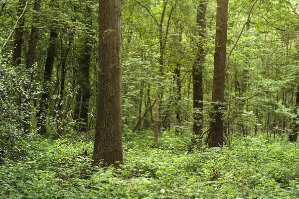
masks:
<svg viewBox="0 0 299 199"><path fill-rule="evenodd" d="M197 43L196 59L192 68L193 77L193 133L195 135L202 135L203 128L203 82L202 71L205 61L206 52L204 49L205 34L206 34L206 14L207 6L205 1L199 3L197 9L196 23L198 25L198 35L200 41Z"/></svg>

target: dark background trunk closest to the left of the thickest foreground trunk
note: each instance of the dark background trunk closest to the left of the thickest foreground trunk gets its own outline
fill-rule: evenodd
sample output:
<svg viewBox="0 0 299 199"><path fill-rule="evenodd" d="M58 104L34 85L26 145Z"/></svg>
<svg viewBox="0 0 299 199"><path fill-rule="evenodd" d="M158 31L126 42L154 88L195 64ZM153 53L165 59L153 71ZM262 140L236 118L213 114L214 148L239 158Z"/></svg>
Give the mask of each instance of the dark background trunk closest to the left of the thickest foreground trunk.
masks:
<svg viewBox="0 0 299 199"><path fill-rule="evenodd" d="M92 14L91 8L89 6L86 7L86 23L91 27L92 26ZM86 38L85 46L83 50L83 58L80 61L80 73L82 73L82 102L80 108L80 118L83 119L84 124L80 125L81 131L88 132L88 106L89 106L89 99L90 99L90 77L89 77L89 68L90 68L90 57L91 57L91 50L92 50L92 42L91 38Z"/></svg>

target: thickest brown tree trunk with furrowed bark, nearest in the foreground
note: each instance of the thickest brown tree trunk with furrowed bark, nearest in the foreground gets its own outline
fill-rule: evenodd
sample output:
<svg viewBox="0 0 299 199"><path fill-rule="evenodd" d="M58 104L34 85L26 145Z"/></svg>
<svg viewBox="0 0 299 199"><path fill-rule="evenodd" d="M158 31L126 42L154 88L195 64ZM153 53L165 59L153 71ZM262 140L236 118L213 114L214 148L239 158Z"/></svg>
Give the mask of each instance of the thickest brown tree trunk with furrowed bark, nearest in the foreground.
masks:
<svg viewBox="0 0 299 199"><path fill-rule="evenodd" d="M124 163L122 147L121 0L99 0L97 126L93 164Z"/></svg>

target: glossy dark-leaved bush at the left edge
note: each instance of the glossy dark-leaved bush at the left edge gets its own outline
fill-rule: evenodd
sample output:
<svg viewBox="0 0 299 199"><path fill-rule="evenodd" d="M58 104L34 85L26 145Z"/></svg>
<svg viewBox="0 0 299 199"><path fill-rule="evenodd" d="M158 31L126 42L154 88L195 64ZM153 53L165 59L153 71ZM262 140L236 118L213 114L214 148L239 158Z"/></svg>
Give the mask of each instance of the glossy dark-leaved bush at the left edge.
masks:
<svg viewBox="0 0 299 199"><path fill-rule="evenodd" d="M5 56L5 54L4 54ZM24 133L22 126L30 125L27 118L31 112L30 99L36 98L33 92L36 85L31 85L30 75L34 72L15 68L0 57L0 163L5 159L16 160L27 153L31 133Z"/></svg>

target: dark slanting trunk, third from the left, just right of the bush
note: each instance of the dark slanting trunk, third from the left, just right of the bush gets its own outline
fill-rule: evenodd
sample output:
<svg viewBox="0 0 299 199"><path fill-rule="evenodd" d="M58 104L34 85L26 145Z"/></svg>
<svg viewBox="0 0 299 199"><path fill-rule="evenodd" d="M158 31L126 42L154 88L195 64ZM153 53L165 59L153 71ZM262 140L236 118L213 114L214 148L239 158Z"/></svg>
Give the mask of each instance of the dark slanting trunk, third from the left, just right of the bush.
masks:
<svg viewBox="0 0 299 199"><path fill-rule="evenodd" d="M37 113L37 132L46 134L46 116L49 107L50 82L52 78L52 70L57 46L57 32L55 29L50 29L49 47L45 64L45 72L43 79L43 93L41 95L39 111Z"/></svg>

